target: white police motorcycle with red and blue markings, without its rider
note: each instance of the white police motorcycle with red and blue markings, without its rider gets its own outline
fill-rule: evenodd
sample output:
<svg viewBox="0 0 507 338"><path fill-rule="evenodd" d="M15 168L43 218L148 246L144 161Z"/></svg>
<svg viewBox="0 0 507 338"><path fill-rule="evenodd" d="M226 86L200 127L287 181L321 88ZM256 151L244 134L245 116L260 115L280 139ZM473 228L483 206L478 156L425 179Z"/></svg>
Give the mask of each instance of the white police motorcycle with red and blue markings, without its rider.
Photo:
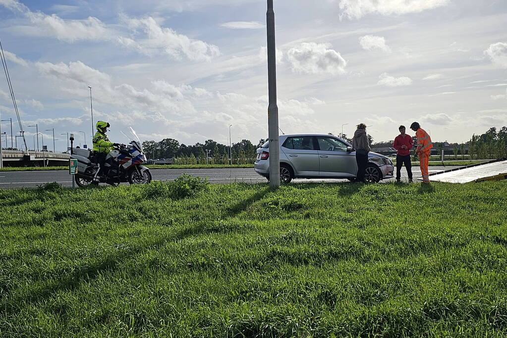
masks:
<svg viewBox="0 0 507 338"><path fill-rule="evenodd" d="M117 186L120 183L128 182L129 184L148 184L152 180L152 174L149 168L142 163L146 162L146 155L142 150L142 144L137 137L135 131L130 128L128 137L121 132L128 142L127 145L120 144L111 150L105 158L104 168L100 175L98 156L93 154L90 149L74 148L70 158L78 160L78 172L74 175L76 184L80 187L86 187L98 179L100 183L107 183Z"/></svg>

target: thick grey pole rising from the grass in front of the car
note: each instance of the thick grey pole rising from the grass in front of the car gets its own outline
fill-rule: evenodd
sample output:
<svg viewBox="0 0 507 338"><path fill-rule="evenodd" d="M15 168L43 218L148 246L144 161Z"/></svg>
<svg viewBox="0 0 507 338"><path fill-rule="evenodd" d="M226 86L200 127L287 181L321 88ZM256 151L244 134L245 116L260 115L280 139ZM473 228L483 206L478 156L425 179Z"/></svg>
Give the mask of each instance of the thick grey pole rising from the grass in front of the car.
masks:
<svg viewBox="0 0 507 338"><path fill-rule="evenodd" d="M273 0L268 0L266 12L268 37L268 139L269 139L269 186L276 189L280 186L280 141L278 138L278 106L276 104L276 44L275 12Z"/></svg>

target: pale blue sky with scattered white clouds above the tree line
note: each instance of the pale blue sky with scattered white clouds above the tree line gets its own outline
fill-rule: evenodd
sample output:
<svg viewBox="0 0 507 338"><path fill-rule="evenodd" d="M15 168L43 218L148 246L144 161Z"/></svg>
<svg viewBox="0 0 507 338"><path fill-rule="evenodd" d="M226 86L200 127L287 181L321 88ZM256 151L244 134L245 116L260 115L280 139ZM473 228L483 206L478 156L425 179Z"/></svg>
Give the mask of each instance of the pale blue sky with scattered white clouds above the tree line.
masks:
<svg viewBox="0 0 507 338"><path fill-rule="evenodd" d="M418 121L433 141L464 142L507 125L506 1L274 6L283 133L350 136L364 122L387 141ZM67 132L91 143L88 86L113 142L129 126L141 141L228 144L230 124L233 143L267 138L265 1L0 0L0 18L29 146L35 123L50 149L52 128L57 150ZM3 74L0 113L15 118Z"/></svg>

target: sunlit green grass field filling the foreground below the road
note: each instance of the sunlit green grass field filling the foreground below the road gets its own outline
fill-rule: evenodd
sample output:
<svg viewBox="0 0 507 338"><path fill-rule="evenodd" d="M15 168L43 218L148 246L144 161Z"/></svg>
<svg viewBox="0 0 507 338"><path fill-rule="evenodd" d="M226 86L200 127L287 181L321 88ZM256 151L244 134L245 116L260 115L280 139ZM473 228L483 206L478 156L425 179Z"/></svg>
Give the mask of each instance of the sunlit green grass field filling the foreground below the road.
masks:
<svg viewBox="0 0 507 338"><path fill-rule="evenodd" d="M0 336L507 335L507 184L0 190Z"/></svg>

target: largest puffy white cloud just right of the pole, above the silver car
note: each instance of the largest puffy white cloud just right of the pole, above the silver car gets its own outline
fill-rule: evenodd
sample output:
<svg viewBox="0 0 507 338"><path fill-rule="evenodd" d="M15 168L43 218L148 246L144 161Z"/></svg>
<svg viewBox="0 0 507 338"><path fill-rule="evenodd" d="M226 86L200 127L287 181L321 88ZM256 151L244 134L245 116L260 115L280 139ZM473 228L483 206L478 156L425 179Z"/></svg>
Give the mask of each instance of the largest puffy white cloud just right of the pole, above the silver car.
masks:
<svg viewBox="0 0 507 338"><path fill-rule="evenodd" d="M302 43L291 48L287 58L292 70L305 74L343 74L347 62L337 51L330 49L331 44Z"/></svg>

